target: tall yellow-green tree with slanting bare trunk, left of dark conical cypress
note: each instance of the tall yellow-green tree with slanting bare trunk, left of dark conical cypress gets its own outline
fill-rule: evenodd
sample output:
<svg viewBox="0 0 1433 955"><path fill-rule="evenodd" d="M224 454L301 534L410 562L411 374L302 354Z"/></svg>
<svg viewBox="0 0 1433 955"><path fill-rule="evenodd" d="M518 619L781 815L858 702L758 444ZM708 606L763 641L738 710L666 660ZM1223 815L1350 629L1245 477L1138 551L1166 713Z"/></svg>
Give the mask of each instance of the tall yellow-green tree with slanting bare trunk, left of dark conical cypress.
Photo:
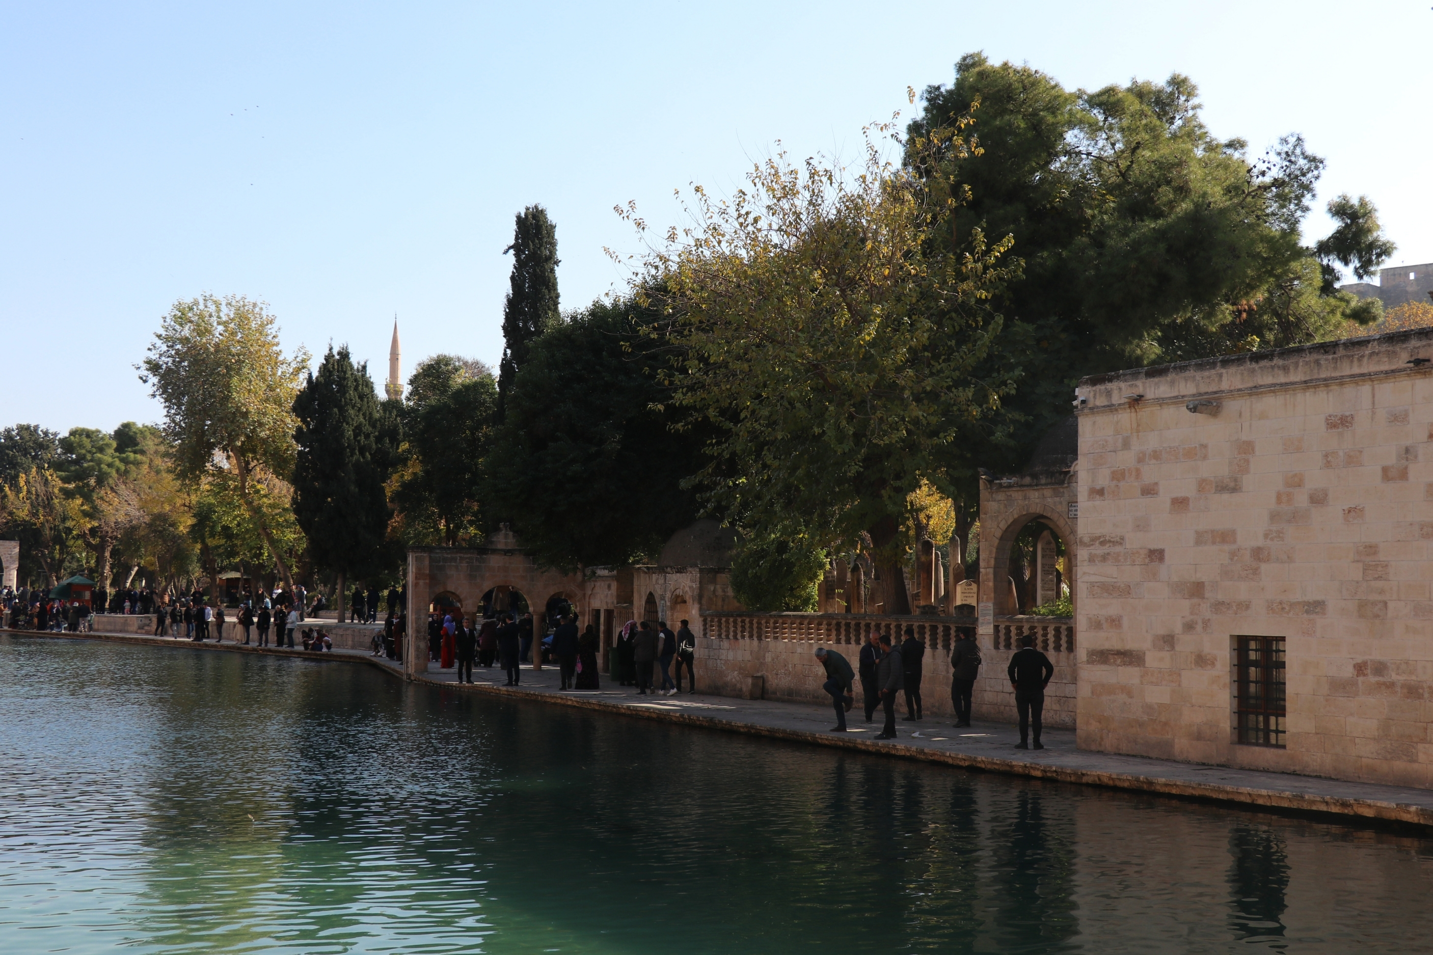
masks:
<svg viewBox="0 0 1433 955"><path fill-rule="evenodd" d="M307 367L304 348L284 354L267 305L202 295L175 302L139 375L165 408L179 475L234 475L235 493L289 590L294 576L259 495L274 494L261 487L265 478L282 483L292 471L294 398Z"/></svg>

